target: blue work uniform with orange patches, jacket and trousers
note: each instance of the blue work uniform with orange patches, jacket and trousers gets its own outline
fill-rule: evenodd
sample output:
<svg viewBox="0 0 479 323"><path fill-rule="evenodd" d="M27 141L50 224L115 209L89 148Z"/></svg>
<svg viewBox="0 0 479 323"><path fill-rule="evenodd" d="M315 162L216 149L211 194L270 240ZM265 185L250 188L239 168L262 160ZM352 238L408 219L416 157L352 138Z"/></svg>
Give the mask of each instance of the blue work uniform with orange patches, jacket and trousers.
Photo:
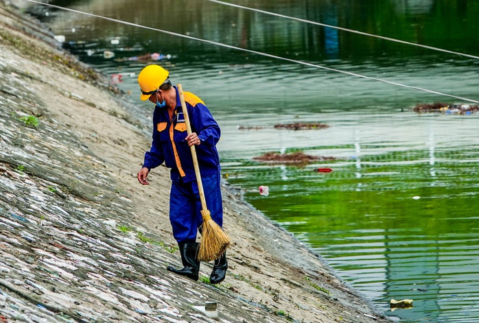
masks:
<svg viewBox="0 0 479 323"><path fill-rule="evenodd" d="M170 222L178 243L196 241L197 228L202 224L202 206L196 182L191 147L185 138L187 127L181 107L178 88L176 107L170 120L167 107L155 106L153 112L153 142L145 153L143 167L152 169L163 162L171 169ZM196 95L184 92L191 131L198 134L200 145L196 145L198 165L202 179L207 208L211 218L223 225L223 206L220 189L220 157L216 143L220 140L220 126L213 119L205 103Z"/></svg>

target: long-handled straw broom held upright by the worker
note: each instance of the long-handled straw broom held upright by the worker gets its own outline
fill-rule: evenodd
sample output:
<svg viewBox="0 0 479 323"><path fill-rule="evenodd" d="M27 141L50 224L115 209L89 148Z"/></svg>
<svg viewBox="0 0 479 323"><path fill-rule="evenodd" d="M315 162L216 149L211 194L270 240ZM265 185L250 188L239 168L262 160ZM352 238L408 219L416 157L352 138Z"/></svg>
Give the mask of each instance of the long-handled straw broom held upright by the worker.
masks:
<svg viewBox="0 0 479 323"><path fill-rule="evenodd" d="M181 84L177 84L178 94L180 95L181 107L183 108L183 115L185 116L185 123L188 134L191 134L191 123L189 122L188 110L183 96L183 88ZM226 248L230 245L230 240L226 232L211 219L211 213L208 210L205 199L205 191L203 191L203 184L201 181L200 167L198 165L198 157L196 156L195 145L191 145L191 156L193 157L193 165L196 174L196 182L198 182L198 191L201 200L201 215L203 223L201 225L201 242L200 251L197 259L199 261L213 261L218 259Z"/></svg>

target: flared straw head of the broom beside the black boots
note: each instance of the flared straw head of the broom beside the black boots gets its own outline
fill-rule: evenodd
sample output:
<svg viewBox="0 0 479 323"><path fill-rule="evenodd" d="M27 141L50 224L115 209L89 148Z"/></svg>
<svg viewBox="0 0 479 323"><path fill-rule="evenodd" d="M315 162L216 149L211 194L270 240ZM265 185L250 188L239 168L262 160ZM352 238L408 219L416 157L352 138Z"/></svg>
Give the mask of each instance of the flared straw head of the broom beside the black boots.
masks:
<svg viewBox="0 0 479 323"><path fill-rule="evenodd" d="M211 213L208 210L202 210L201 214L203 224L197 259L199 261L213 261L226 251L231 242L226 232L211 219Z"/></svg>

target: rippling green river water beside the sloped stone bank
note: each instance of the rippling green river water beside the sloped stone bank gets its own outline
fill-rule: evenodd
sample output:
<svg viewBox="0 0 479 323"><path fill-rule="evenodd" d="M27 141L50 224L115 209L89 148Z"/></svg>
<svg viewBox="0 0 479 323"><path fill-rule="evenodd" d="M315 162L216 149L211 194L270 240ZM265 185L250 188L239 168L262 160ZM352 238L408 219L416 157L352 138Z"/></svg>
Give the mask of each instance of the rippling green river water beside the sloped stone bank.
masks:
<svg viewBox="0 0 479 323"><path fill-rule="evenodd" d="M479 60L206 0L67 1L69 8L390 82L479 99ZM65 4L65 1L53 1ZM237 4L479 55L479 1L305 0ZM175 34L41 7L65 47L139 100L136 77L161 53L174 84L222 128L224 178L401 322L479 322L479 115L417 114L454 99ZM113 53L113 57L110 57ZM274 125L320 122L321 130ZM302 167L266 152L327 157ZM141 156L139 156L141 158ZM333 171L320 173L318 168ZM268 196L258 187L269 187ZM390 299L414 300L391 309Z"/></svg>

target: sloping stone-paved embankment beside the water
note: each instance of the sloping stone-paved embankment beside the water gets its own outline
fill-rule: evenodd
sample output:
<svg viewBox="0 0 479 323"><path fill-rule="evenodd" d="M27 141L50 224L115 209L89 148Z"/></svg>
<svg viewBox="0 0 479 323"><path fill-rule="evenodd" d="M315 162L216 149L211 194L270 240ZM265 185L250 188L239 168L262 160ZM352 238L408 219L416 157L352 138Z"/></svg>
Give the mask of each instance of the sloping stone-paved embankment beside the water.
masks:
<svg viewBox="0 0 479 323"><path fill-rule="evenodd" d="M148 125L4 1L0 26L0 322L215 322L209 301L220 322L388 322L227 184L226 280L167 272L168 171L135 178Z"/></svg>

